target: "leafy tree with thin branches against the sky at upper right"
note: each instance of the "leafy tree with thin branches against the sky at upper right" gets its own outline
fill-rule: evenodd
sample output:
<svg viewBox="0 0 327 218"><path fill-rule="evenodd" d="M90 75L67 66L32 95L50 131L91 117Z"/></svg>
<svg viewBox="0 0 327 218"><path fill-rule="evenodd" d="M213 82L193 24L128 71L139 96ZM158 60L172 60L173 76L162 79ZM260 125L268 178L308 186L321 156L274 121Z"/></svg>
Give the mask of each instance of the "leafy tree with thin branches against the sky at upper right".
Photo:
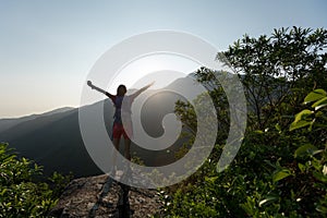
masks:
<svg viewBox="0 0 327 218"><path fill-rule="evenodd" d="M327 86L326 48L326 29L294 26L274 29L270 37L244 35L217 59L231 64L241 76L254 111L249 121L264 130L275 110L284 109L279 107L283 102L296 109L307 92Z"/></svg>

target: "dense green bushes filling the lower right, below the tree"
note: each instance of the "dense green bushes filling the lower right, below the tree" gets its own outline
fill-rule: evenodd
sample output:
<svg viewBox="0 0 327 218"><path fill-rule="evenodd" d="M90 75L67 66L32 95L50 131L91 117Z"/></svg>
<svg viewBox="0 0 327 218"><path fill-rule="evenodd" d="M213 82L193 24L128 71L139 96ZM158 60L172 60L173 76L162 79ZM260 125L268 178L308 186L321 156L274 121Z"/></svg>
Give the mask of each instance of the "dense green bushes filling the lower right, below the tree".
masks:
<svg viewBox="0 0 327 218"><path fill-rule="evenodd" d="M318 110L295 116L291 132L278 126L247 132L232 166L223 172L217 173L216 162L207 161L187 181L166 189L167 216L326 216L327 104L316 102L312 106ZM303 126L302 121L311 124ZM312 142L312 134L319 140Z"/></svg>

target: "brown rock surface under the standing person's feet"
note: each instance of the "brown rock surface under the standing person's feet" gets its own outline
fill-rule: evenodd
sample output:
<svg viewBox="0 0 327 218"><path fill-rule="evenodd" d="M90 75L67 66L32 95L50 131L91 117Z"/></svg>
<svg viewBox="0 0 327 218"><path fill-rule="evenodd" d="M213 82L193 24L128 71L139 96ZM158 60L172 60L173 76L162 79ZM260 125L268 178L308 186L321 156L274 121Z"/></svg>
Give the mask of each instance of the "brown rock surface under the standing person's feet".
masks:
<svg viewBox="0 0 327 218"><path fill-rule="evenodd" d="M157 191L129 187L104 174L73 180L50 216L161 217L161 207Z"/></svg>

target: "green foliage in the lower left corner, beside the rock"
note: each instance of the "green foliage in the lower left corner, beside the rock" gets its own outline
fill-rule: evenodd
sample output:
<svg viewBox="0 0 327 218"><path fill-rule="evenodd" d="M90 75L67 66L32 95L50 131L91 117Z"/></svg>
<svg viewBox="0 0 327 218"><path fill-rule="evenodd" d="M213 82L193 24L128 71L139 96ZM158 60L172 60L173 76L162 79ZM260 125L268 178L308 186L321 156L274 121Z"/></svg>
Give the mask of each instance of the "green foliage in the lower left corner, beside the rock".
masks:
<svg viewBox="0 0 327 218"><path fill-rule="evenodd" d="M71 178L53 173L51 190L48 183L34 181L40 175L39 166L17 159L8 144L0 143L0 217L47 216Z"/></svg>

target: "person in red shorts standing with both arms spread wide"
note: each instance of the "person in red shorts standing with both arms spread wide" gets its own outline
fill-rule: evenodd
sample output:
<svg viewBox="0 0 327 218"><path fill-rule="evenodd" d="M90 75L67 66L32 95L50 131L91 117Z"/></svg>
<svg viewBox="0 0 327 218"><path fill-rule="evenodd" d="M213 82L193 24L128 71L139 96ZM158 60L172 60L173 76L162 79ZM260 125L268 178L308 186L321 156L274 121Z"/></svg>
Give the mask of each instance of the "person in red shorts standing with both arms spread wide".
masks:
<svg viewBox="0 0 327 218"><path fill-rule="evenodd" d="M92 89L96 89L106 96L108 96L116 108L114 116L113 116L113 126L112 126L112 143L117 150L119 150L119 144L121 136L124 137L124 157L128 160L131 160L131 137L133 137L133 128L132 128L132 119L131 119L131 106L134 99L148 87L154 84L150 83L143 88L136 90L132 95L126 94L126 87L124 85L119 85L117 88L117 95L112 95L95 85L92 84L90 81L87 81L87 85L92 87ZM116 153L113 157L113 164L116 164Z"/></svg>

